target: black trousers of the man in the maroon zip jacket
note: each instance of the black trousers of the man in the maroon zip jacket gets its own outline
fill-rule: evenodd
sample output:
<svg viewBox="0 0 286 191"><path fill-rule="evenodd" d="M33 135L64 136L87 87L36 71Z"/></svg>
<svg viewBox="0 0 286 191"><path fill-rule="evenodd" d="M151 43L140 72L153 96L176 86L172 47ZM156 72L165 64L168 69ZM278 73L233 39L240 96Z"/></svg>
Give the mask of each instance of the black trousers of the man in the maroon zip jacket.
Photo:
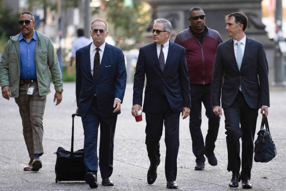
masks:
<svg viewBox="0 0 286 191"><path fill-rule="evenodd" d="M212 112L211 107L211 85L191 84L191 113L190 133L192 138L193 154L196 156L196 163L205 162L206 156L214 156L214 142L217 140L219 131L220 116ZM204 138L200 129L202 123L202 102L205 106L205 115L208 118L207 135Z"/></svg>

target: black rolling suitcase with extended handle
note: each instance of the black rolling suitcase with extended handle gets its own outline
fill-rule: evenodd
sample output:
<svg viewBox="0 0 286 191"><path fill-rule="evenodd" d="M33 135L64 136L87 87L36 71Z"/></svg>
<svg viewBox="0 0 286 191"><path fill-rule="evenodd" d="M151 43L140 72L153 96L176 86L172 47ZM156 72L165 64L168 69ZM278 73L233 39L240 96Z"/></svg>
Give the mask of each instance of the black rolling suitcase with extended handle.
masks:
<svg viewBox="0 0 286 191"><path fill-rule="evenodd" d="M83 149L74 152L74 116L78 116L78 114L71 115L71 151L59 147L57 152L54 153L57 155L55 165L56 183L58 181L85 180L86 166L83 162Z"/></svg>

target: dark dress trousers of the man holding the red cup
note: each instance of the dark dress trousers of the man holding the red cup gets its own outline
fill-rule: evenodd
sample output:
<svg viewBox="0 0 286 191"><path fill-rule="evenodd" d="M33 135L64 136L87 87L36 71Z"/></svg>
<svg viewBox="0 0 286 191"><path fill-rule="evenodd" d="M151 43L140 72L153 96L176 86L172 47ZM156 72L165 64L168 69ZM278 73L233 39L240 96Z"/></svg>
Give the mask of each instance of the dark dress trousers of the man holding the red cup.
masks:
<svg viewBox="0 0 286 191"><path fill-rule="evenodd" d="M158 164L160 159L160 144L165 125L165 176L167 181L176 180L177 156L179 151L179 117L180 113L172 112L170 104L163 96L163 110L160 113L146 114L146 145L150 163L152 166Z"/></svg>

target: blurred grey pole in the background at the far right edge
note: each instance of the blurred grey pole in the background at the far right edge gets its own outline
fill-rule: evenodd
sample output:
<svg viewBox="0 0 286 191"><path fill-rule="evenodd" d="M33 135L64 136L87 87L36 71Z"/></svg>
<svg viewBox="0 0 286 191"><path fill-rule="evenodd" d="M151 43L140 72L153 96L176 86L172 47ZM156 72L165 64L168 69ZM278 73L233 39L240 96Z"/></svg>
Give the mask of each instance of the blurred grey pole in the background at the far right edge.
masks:
<svg viewBox="0 0 286 191"><path fill-rule="evenodd" d="M285 38L283 37L283 31L282 31L282 0L276 0L275 23L277 28L275 36L275 57L274 57L275 81L273 83L273 86L286 87L284 56L281 53L282 47L279 47L279 42L285 42Z"/></svg>

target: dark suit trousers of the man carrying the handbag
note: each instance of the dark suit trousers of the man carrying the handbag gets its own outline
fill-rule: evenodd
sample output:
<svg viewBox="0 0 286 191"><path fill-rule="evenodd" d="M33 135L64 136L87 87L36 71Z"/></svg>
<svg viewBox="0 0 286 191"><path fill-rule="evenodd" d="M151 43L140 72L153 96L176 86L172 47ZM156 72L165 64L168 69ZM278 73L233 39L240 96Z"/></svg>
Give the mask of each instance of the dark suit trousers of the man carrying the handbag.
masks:
<svg viewBox="0 0 286 191"><path fill-rule="evenodd" d="M226 145L228 165L227 170L240 171L240 143L242 140L241 179L250 180L253 161L253 140L256 129L258 109L253 109L246 103L243 93L239 92L233 104L224 108ZM239 127L240 123L240 127Z"/></svg>

